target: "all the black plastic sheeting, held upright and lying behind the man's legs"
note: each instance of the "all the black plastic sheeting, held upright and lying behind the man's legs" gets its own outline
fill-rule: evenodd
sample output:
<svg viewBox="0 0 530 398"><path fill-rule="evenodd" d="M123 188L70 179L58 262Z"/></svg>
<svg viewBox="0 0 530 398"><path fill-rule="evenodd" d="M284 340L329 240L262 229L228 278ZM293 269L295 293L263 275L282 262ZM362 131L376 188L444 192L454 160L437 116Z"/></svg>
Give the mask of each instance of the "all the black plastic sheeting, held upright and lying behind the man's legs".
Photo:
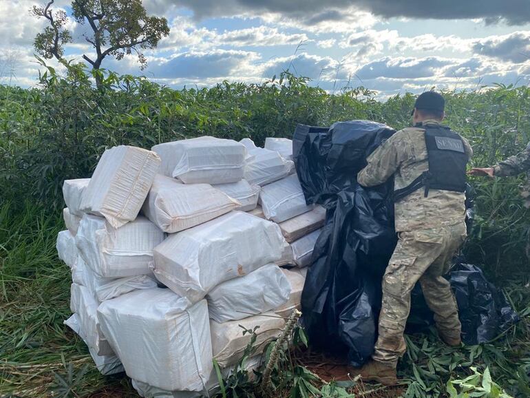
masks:
<svg viewBox="0 0 530 398"><path fill-rule="evenodd" d="M293 136L306 202L327 209L302 292L303 323L312 346L348 352L353 366L373 353L381 279L396 245L393 181L364 188L356 177L368 155L392 134L381 123L348 121L329 129L300 125ZM467 344L487 341L517 320L477 267L460 264L450 278ZM430 324L432 314L421 289L414 291L412 302L411 320Z"/></svg>

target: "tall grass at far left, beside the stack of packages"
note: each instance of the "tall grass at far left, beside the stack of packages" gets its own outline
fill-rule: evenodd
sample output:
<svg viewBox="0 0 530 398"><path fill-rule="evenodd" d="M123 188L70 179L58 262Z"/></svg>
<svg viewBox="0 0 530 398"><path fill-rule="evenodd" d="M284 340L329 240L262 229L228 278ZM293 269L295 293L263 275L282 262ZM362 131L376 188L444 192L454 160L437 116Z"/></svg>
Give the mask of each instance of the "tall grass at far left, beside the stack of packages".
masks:
<svg viewBox="0 0 530 398"><path fill-rule="evenodd" d="M71 277L55 249L61 229L59 214L30 202L18 207L5 202L0 207L2 397L50 396L50 388L67 375L67 364L77 371L89 366L76 396L122 382L102 377L85 344L63 325L70 316Z"/></svg>

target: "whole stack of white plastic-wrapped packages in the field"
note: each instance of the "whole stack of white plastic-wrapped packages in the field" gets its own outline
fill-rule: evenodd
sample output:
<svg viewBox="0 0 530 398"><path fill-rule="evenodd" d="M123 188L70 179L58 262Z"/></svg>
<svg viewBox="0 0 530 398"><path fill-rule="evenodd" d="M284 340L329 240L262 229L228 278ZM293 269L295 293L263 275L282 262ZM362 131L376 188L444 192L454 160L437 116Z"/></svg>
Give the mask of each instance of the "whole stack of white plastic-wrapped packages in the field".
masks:
<svg viewBox="0 0 530 398"><path fill-rule="evenodd" d="M217 384L213 359L226 375L242 357L241 326L259 326L260 353L299 307L324 211L306 206L289 143L267 143L113 147L92 178L64 182L65 324L101 373L125 370L145 397L198 397Z"/></svg>

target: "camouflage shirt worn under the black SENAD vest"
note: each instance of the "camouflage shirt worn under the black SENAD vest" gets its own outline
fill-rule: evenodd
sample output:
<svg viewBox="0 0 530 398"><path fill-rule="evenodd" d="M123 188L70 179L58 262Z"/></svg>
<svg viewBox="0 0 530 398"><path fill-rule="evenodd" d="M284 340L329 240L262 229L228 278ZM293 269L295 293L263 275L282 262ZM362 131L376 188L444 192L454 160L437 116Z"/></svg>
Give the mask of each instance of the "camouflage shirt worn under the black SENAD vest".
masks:
<svg viewBox="0 0 530 398"><path fill-rule="evenodd" d="M424 121L423 125L439 124ZM467 156L473 151L463 138ZM368 156L368 165L359 172L357 180L364 187L379 185L394 175L394 189L410 185L429 169L425 129L407 127L388 138ZM396 231L414 231L455 225L465 220L465 194L431 189L427 198L423 189L410 193L396 202Z"/></svg>

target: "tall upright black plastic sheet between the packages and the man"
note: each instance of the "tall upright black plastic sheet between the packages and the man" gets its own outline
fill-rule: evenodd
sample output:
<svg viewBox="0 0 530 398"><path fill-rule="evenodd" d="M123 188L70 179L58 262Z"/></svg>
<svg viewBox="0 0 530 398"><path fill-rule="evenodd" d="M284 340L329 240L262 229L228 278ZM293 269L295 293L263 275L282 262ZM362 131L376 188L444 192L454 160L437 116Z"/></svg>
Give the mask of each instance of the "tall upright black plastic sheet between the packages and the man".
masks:
<svg viewBox="0 0 530 398"><path fill-rule="evenodd" d="M381 123L335 123L307 132L297 156L306 201L328 209L302 292L304 326L312 345L347 351L354 366L373 353L381 277L396 244L393 182L366 189L356 176L393 133Z"/></svg>

